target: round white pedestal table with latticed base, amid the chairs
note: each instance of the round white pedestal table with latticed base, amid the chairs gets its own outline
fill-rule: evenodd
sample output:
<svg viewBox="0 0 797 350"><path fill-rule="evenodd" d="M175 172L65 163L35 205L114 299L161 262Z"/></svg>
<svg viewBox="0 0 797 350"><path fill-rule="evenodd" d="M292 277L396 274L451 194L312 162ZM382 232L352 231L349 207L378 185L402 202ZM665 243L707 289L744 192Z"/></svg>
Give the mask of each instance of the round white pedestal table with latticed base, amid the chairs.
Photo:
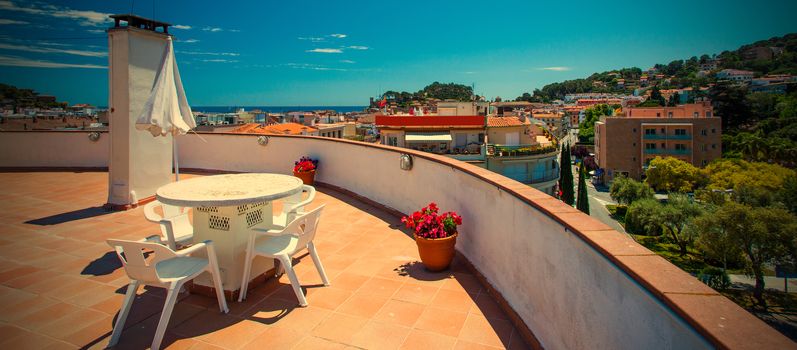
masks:
<svg viewBox="0 0 797 350"><path fill-rule="evenodd" d="M159 201L194 209L194 242L212 240L216 248L224 290L241 287L249 229L273 224L271 202L302 191L302 180L280 174L226 174L195 177L158 189ZM267 259L255 260L252 278L274 267ZM194 283L213 287L209 276Z"/></svg>

